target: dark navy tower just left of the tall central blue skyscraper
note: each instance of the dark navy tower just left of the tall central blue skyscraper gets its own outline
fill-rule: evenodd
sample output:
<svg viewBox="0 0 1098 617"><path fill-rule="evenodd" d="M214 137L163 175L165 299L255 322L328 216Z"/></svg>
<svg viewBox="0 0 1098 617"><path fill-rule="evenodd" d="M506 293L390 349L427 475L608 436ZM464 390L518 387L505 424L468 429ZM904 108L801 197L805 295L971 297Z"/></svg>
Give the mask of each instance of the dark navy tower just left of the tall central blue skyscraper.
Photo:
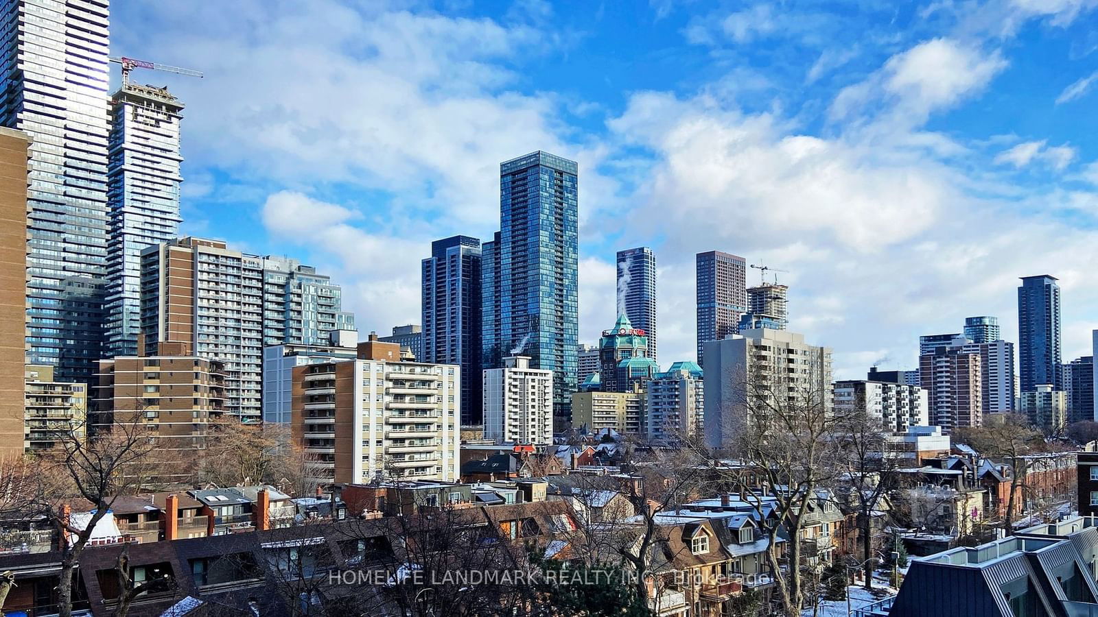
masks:
<svg viewBox="0 0 1098 617"><path fill-rule="evenodd" d="M430 243L422 272L423 361L461 368L461 424L481 424L481 242Z"/></svg>

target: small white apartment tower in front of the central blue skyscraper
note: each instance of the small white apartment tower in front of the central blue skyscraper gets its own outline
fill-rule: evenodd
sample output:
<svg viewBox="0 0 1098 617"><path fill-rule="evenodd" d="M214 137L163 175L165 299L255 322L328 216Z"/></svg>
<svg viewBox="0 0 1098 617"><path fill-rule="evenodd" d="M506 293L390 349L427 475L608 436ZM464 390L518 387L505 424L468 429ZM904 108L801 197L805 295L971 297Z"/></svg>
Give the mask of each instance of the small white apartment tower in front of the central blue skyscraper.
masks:
<svg viewBox="0 0 1098 617"><path fill-rule="evenodd" d="M484 438L497 444L552 444L552 371L531 369L527 356L484 370Z"/></svg>

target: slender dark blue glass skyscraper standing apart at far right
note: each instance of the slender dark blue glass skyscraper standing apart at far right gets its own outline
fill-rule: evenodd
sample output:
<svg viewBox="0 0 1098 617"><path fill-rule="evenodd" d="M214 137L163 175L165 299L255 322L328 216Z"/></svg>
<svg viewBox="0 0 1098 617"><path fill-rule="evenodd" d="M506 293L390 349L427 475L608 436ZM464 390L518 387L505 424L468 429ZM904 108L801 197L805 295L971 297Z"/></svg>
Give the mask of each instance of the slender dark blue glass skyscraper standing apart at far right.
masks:
<svg viewBox="0 0 1098 617"><path fill-rule="evenodd" d="M1064 389L1060 347L1060 285L1049 274L1022 277L1018 288L1018 368L1022 392L1050 383Z"/></svg>

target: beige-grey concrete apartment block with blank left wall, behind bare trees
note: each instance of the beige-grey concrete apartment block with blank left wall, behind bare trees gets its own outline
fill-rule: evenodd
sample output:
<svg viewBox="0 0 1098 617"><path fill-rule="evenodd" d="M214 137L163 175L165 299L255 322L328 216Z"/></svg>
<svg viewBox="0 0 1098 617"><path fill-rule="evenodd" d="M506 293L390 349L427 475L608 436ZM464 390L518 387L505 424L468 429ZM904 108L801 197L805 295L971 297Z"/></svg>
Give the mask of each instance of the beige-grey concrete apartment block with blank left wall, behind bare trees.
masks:
<svg viewBox="0 0 1098 617"><path fill-rule="evenodd" d="M749 410L747 384L787 392L788 403L833 404L831 349L805 343L805 335L754 328L705 344L705 439L726 447ZM775 404L783 404L776 401Z"/></svg>

